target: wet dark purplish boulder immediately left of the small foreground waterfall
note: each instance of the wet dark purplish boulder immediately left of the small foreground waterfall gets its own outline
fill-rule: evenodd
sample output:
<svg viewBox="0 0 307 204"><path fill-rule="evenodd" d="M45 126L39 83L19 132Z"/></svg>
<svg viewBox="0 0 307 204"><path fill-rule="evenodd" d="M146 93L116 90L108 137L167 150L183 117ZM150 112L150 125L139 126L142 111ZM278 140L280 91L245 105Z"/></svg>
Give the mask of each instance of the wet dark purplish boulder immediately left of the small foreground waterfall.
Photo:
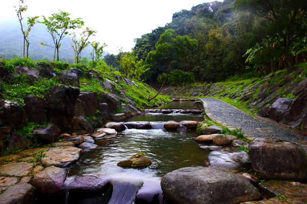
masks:
<svg viewBox="0 0 307 204"><path fill-rule="evenodd" d="M107 203L112 195L111 177L104 174L79 175L65 186L69 203Z"/></svg>

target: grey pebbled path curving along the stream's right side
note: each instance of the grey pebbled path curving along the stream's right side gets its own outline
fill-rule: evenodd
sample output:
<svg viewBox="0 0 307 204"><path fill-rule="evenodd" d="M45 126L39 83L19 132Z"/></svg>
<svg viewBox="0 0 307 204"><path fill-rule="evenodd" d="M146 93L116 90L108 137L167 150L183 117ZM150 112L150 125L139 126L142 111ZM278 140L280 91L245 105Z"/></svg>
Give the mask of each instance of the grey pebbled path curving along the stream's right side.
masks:
<svg viewBox="0 0 307 204"><path fill-rule="evenodd" d="M272 137L276 139L295 142L307 151L307 136L286 130L274 121L265 121L264 118L252 116L235 108L222 100L215 98L199 98L204 102L206 114L214 121L228 127L242 129L252 137Z"/></svg>

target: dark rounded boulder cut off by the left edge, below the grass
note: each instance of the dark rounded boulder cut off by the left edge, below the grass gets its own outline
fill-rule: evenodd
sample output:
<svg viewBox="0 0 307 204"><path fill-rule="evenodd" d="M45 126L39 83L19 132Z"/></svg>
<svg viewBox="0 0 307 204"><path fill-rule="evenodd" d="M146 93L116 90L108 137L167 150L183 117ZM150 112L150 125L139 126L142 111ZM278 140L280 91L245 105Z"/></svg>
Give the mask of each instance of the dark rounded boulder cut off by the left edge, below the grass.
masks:
<svg viewBox="0 0 307 204"><path fill-rule="evenodd" d="M11 130L19 130L28 125L26 111L12 100L0 100L0 118L2 126L9 126Z"/></svg>

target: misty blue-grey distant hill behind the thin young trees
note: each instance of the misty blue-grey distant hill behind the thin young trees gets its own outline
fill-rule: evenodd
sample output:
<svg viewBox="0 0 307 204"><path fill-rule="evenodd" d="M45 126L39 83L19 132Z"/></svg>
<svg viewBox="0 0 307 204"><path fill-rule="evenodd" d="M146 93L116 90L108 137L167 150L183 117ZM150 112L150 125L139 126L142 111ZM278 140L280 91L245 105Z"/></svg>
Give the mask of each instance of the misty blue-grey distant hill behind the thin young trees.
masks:
<svg viewBox="0 0 307 204"><path fill-rule="evenodd" d="M26 19L26 18L25 18ZM43 59L47 58L52 60L54 56L54 48L43 46L40 42L47 43L51 46L54 45L50 34L47 32L45 25L37 23L29 34L29 57L31 59ZM71 47L71 37L65 37L61 40L61 47L59 57L61 61L73 60L75 57L74 50ZM20 30L20 24L17 16L15 18L7 18L0 20L0 57L12 58L13 55L19 57L24 53L24 39ZM81 57L90 58L92 52L92 46L87 46L81 53ZM103 56L107 55L107 52L103 53ZM65 58L65 59L63 59Z"/></svg>

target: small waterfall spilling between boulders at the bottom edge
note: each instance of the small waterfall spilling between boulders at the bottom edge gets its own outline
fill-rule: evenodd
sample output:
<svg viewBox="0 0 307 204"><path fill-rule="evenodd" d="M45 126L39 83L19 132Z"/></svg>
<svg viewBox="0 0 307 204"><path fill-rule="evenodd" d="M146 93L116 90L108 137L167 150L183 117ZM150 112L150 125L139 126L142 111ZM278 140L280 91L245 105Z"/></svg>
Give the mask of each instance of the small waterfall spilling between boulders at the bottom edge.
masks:
<svg viewBox="0 0 307 204"><path fill-rule="evenodd" d="M142 182L140 178L131 177L127 174L112 176L113 194L108 204L133 203Z"/></svg>

